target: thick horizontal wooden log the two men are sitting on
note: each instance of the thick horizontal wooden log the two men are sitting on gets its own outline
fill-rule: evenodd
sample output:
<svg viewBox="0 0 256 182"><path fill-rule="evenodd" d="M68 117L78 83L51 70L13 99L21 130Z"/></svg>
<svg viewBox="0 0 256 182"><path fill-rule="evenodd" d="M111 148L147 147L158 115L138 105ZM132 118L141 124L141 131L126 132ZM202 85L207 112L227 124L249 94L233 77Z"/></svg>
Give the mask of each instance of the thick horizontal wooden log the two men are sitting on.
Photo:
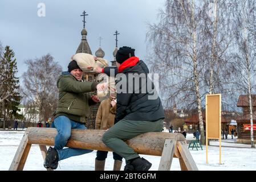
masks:
<svg viewBox="0 0 256 182"><path fill-rule="evenodd" d="M30 127L30 144L40 144L54 146L54 138L57 134L53 128ZM86 148L91 150L112 151L101 141L105 130L76 130L72 129L71 137L66 147ZM138 135L135 138L127 140L126 143L138 154L161 156L164 148L165 139L176 141L185 141L184 135L180 133L152 132ZM174 157L176 157L174 155Z"/></svg>

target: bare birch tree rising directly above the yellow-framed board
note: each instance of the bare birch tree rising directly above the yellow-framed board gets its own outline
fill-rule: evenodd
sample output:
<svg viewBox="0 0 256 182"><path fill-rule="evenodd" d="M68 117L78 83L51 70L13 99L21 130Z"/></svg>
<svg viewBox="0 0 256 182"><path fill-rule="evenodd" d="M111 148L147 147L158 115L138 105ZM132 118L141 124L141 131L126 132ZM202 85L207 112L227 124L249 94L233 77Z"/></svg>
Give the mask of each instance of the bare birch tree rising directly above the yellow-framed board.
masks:
<svg viewBox="0 0 256 182"><path fill-rule="evenodd" d="M224 0L204 1L204 40L205 40L205 81L209 85L209 93L222 93L227 96L230 92L232 72L229 72L232 32L231 32L232 3ZM226 65L229 65L226 67Z"/></svg>

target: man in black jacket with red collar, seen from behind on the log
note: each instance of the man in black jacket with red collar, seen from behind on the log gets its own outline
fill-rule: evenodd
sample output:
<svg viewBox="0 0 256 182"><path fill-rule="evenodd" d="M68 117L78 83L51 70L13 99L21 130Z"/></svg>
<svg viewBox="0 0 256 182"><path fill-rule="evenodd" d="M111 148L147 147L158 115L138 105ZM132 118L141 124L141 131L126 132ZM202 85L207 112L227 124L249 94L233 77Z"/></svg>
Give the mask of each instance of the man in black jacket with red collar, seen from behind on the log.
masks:
<svg viewBox="0 0 256 182"><path fill-rule="evenodd" d="M156 88L148 78L148 67L135 49L121 47L116 53L115 67L97 69L97 72L116 77L117 109L115 125L105 132L103 143L126 160L125 171L147 171L152 164L129 147L124 140L137 135L161 131L164 109ZM114 73L115 75L111 75ZM149 85L149 86L148 86ZM156 94L154 98L154 94Z"/></svg>

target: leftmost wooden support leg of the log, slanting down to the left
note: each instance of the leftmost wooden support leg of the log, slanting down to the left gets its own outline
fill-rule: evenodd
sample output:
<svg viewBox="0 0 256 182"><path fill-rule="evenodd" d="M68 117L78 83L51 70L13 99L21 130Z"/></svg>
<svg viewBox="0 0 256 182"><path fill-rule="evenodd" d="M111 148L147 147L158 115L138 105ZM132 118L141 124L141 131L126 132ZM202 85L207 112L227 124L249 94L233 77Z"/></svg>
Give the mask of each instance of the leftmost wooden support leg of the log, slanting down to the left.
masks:
<svg viewBox="0 0 256 182"><path fill-rule="evenodd" d="M22 171L26 160L27 155L29 155L31 144L28 143L28 132L26 131L23 135L23 138L21 140L21 143L19 144L18 150L14 156L13 162L11 163L11 166L9 168L9 171Z"/></svg>

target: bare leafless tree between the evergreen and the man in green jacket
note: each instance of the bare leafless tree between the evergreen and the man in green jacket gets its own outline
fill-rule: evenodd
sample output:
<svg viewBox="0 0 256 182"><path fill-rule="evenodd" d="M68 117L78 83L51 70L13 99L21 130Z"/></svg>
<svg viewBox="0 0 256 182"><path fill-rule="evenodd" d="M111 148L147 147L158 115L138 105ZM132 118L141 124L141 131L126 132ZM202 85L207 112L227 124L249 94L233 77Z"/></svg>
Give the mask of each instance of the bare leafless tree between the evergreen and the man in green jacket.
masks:
<svg viewBox="0 0 256 182"><path fill-rule="evenodd" d="M58 103L56 81L62 72L60 65L47 54L40 59L26 60L27 72L23 73L23 94L39 108L40 119L47 121Z"/></svg>

